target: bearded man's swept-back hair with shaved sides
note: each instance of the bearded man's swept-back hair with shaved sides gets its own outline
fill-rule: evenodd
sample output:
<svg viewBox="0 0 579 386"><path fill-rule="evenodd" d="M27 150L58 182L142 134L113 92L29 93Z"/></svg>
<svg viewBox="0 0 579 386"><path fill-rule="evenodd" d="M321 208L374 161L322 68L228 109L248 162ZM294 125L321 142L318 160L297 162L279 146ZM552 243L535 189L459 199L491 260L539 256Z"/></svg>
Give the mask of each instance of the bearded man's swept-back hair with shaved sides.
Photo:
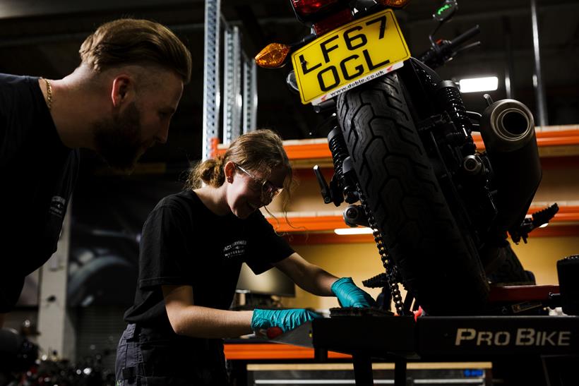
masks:
<svg viewBox="0 0 579 386"><path fill-rule="evenodd" d="M191 52L169 28L150 20L119 19L101 25L80 46L80 60L94 71L154 64L191 80Z"/></svg>

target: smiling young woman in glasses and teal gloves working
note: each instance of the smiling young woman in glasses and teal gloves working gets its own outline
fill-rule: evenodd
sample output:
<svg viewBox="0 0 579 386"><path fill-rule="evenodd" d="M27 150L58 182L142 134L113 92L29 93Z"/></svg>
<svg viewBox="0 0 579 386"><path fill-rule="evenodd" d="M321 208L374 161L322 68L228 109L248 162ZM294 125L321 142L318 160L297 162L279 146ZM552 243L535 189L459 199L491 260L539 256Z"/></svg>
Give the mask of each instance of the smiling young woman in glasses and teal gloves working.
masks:
<svg viewBox="0 0 579 386"><path fill-rule="evenodd" d="M200 181L205 184L200 187ZM224 337L319 318L304 309L230 311L241 263L277 267L299 287L369 307L369 294L295 253L258 208L290 191L280 137L241 135L193 169L187 187L157 204L143 226L138 289L117 351L117 385L227 385Z"/></svg>

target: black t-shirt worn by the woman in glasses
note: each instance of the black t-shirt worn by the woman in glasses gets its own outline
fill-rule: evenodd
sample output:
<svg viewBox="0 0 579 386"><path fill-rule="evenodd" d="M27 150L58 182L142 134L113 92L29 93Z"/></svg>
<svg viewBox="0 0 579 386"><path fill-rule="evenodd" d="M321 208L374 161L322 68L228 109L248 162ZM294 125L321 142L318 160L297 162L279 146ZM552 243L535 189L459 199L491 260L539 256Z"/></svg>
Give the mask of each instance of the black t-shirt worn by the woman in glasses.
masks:
<svg viewBox="0 0 579 386"><path fill-rule="evenodd" d="M171 335L162 285L191 286L196 306L227 310L241 263L259 274L293 252L259 211L218 216L193 191L169 195L143 226L135 303L125 320Z"/></svg>

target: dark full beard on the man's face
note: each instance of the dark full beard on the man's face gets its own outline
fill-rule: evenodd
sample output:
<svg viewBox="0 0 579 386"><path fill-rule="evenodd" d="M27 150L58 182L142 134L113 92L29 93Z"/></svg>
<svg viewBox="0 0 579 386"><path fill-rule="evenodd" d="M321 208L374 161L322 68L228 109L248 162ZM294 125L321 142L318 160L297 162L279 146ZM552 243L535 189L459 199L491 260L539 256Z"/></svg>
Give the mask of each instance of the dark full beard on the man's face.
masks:
<svg viewBox="0 0 579 386"><path fill-rule="evenodd" d="M131 172L143 150L141 112L131 102L122 114L94 124L95 150L114 169Z"/></svg>

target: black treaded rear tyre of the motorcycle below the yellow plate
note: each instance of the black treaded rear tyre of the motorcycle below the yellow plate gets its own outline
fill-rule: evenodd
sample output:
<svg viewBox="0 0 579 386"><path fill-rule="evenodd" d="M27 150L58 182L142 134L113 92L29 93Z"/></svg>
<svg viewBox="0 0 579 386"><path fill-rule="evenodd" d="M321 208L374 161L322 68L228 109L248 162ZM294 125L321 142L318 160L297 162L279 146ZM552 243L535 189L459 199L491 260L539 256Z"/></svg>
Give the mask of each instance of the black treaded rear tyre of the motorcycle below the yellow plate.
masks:
<svg viewBox="0 0 579 386"><path fill-rule="evenodd" d="M405 287L431 315L474 313L489 294L484 269L450 212L402 87L394 72L339 95L338 121Z"/></svg>

